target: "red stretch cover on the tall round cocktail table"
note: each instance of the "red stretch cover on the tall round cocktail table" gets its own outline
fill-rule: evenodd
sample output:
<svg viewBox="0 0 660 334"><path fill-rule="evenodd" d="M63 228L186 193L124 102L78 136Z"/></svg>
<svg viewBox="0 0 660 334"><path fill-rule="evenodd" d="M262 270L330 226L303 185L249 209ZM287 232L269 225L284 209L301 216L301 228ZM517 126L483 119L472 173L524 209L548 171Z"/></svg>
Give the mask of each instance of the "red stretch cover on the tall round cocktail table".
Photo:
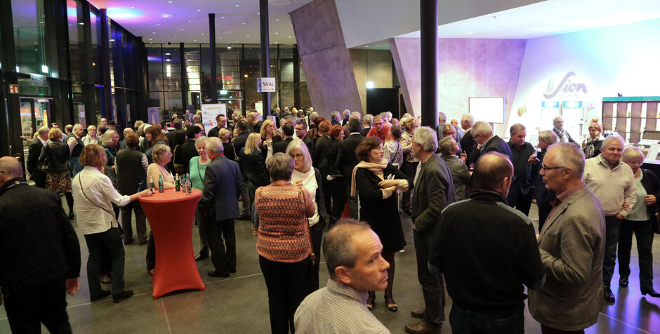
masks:
<svg viewBox="0 0 660 334"><path fill-rule="evenodd" d="M194 211L201 196L198 189L191 195L168 189L140 197L156 241L154 299L176 290L204 290L192 249Z"/></svg>

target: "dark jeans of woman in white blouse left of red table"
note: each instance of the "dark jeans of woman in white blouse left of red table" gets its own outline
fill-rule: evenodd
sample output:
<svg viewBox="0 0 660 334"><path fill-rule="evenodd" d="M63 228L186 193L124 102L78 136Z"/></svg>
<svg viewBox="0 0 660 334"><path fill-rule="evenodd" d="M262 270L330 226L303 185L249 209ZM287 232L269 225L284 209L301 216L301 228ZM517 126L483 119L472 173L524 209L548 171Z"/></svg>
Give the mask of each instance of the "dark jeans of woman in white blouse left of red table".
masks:
<svg viewBox="0 0 660 334"><path fill-rule="evenodd" d="M89 249L87 259L87 281L89 295L95 296L103 292L99 280L101 255L103 248L110 250L112 258L112 293L124 291L124 244L121 243L119 228L112 227L105 232L85 234L85 241Z"/></svg>

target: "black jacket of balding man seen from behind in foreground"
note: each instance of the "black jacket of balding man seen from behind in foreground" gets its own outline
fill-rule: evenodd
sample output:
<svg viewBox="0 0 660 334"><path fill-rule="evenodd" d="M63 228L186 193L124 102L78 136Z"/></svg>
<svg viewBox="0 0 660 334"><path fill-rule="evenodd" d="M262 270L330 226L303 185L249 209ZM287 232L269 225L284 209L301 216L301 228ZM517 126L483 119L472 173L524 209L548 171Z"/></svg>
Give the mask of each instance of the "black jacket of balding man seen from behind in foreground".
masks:
<svg viewBox="0 0 660 334"><path fill-rule="evenodd" d="M522 314L522 285L545 280L532 221L501 194L474 192L447 206L437 225L428 262L443 272L454 303L495 318Z"/></svg>

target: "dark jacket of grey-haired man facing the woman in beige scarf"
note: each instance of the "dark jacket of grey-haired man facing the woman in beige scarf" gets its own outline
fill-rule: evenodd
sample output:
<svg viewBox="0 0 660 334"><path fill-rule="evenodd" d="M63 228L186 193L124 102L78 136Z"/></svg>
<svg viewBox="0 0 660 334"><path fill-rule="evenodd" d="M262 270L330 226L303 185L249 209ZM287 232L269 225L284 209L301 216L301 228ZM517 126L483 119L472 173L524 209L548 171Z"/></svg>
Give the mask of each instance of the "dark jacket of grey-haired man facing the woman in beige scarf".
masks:
<svg viewBox="0 0 660 334"><path fill-rule="evenodd" d="M435 222L440 218L442 210L456 200L454 181L447 163L437 154L422 163L415 180L411 218L417 232L433 234Z"/></svg>

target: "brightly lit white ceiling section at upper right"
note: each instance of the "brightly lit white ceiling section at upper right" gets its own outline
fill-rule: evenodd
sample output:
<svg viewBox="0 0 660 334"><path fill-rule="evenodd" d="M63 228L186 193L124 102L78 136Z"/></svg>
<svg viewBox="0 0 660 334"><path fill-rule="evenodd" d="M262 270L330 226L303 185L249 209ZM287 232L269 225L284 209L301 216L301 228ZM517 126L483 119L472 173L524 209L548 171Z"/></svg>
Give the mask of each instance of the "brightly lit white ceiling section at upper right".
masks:
<svg viewBox="0 0 660 334"><path fill-rule="evenodd" d="M440 25L438 36L534 39L657 18L659 0L550 0ZM419 37L419 31L400 37Z"/></svg>

